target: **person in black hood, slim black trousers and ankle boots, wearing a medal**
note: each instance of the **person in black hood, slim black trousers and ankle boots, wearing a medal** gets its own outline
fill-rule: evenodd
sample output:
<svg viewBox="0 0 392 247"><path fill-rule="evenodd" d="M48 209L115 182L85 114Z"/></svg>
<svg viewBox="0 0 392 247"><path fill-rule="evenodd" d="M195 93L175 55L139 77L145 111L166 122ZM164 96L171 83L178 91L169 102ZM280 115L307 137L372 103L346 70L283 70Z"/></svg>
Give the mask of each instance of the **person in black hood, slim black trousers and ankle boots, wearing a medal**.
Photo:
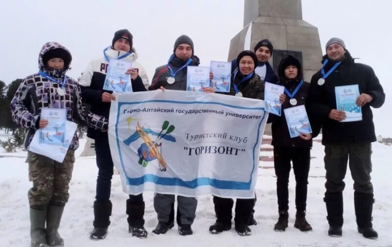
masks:
<svg viewBox="0 0 392 247"><path fill-rule="evenodd" d="M279 83L284 87L282 115L269 115L272 123L272 145L274 167L276 174L276 193L278 196L279 220L274 226L275 231L285 231L289 218L289 176L291 161L295 176L295 223L294 227L301 231L310 231L312 226L305 219L306 198L308 191L308 174L310 168L310 149L312 134L298 129L298 135L292 137L289 133L285 113L306 102L310 83L304 82L302 67L298 59L292 55L283 58L279 64ZM290 111L291 112L291 111ZM306 112L304 112L306 114Z"/></svg>

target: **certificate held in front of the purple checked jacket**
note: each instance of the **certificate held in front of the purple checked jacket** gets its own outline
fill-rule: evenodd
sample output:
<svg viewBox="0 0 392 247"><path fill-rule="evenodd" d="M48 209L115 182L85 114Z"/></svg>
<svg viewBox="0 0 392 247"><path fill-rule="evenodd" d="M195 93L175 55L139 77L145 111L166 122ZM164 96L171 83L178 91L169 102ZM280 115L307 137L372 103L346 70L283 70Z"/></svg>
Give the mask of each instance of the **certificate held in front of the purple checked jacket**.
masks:
<svg viewBox="0 0 392 247"><path fill-rule="evenodd" d="M42 108L41 119L48 120L48 125L40 130L40 143L62 145L65 139L65 121L67 110L57 108Z"/></svg>

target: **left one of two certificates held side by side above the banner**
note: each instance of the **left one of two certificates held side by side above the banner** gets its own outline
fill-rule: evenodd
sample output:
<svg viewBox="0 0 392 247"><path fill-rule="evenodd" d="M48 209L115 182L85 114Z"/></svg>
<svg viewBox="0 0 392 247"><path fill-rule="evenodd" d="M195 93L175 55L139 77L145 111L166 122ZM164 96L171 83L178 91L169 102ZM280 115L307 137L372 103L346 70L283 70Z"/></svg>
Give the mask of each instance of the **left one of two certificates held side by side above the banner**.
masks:
<svg viewBox="0 0 392 247"><path fill-rule="evenodd" d="M210 87L210 68L188 66L187 67L187 91L200 91Z"/></svg>

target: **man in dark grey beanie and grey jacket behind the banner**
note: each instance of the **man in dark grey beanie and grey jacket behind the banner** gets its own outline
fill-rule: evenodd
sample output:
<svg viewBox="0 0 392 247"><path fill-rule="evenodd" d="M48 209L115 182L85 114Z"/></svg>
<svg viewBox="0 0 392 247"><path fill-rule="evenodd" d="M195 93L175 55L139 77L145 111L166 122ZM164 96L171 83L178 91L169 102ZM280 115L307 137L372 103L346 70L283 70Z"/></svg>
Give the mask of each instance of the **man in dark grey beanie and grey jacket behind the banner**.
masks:
<svg viewBox="0 0 392 247"><path fill-rule="evenodd" d="M148 90L170 89L186 90L187 66L198 66L199 58L194 55L193 41L186 35L181 35L174 42L173 53L167 64L157 67L151 86ZM205 88L205 92L213 92ZM155 234L165 234L174 226L171 219L175 196L156 193L154 208L158 215L158 225L152 231ZM196 217L197 200L195 197L177 196L177 224L181 235L193 234L191 225Z"/></svg>

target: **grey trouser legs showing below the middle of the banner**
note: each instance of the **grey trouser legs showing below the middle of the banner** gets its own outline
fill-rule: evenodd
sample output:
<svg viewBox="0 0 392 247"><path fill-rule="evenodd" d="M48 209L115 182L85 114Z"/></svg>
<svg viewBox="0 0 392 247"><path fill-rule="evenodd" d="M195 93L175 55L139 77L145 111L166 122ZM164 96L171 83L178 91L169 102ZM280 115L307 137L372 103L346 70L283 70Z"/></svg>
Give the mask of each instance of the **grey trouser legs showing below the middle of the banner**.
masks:
<svg viewBox="0 0 392 247"><path fill-rule="evenodd" d="M154 208L158 215L158 221L166 223L169 222L169 215L172 210L172 203L174 203L174 200L174 195L155 194ZM197 199L195 197L177 196L177 203L177 208L180 211L180 223L192 225L196 217Z"/></svg>

